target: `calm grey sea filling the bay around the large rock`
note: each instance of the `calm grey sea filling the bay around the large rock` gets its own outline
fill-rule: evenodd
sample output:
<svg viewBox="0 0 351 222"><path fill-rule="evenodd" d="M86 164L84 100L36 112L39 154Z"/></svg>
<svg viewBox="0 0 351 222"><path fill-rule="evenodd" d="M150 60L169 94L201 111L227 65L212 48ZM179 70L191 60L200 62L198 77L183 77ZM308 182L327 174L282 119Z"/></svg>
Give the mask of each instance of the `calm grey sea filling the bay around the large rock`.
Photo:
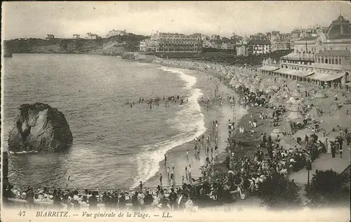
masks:
<svg viewBox="0 0 351 222"><path fill-rule="evenodd" d="M5 58L1 147L7 149L21 104L42 102L57 108L74 136L65 153L10 155L10 182L122 189L157 178L167 152L206 131L199 100L201 88L211 86L199 87L198 78L204 75L101 55ZM166 107L163 97L177 95L188 102ZM152 109L138 102L155 97L161 102ZM133 108L128 102L135 103Z"/></svg>

